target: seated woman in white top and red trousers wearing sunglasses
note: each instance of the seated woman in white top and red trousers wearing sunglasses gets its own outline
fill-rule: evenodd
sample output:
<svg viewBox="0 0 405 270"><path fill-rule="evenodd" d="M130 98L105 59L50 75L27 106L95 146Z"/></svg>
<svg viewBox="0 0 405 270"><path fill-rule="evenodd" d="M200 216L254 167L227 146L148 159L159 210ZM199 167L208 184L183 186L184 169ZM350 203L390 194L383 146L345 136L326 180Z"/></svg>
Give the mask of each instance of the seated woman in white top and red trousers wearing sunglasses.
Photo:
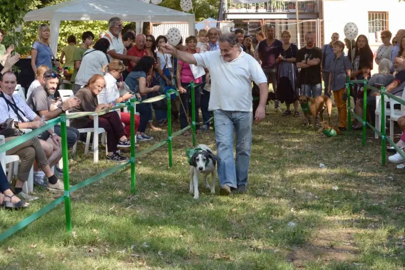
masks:
<svg viewBox="0 0 405 270"><path fill-rule="evenodd" d="M105 87L100 92L100 94L97 95L98 104L121 103L132 97L132 94L130 94L129 92L125 93L123 96L119 95L118 87L121 87L123 83L117 84L117 79L124 70L125 65L118 59L112 60L108 65L102 68L102 71L105 72ZM120 115L121 122L125 124L125 135L127 136L127 138L130 138L131 114L129 112L121 112ZM138 130L139 121L139 115L135 114L135 133Z"/></svg>

